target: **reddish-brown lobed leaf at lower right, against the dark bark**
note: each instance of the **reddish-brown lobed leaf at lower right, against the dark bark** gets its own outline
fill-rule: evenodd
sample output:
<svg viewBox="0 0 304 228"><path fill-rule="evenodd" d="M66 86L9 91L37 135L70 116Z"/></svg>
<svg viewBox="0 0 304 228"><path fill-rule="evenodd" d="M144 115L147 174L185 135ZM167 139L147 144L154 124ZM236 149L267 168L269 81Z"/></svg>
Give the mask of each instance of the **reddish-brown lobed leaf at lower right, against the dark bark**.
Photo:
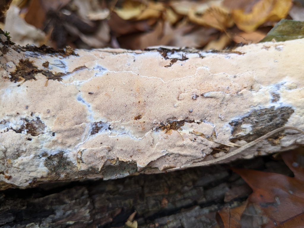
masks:
<svg viewBox="0 0 304 228"><path fill-rule="evenodd" d="M253 193L242 206L218 212L220 227L304 227L304 150L288 151L281 156L294 177L233 169Z"/></svg>

